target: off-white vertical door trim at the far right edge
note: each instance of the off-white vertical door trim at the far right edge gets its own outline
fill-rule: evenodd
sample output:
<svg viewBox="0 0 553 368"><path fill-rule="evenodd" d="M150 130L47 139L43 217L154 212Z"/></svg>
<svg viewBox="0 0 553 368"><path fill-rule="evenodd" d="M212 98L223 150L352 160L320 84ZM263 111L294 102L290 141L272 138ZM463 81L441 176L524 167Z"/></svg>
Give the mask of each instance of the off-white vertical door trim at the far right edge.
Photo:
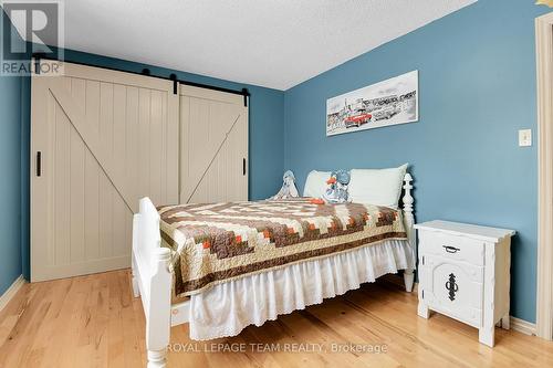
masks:
<svg viewBox="0 0 553 368"><path fill-rule="evenodd" d="M553 339L553 12L535 19L538 71L536 335Z"/></svg>

